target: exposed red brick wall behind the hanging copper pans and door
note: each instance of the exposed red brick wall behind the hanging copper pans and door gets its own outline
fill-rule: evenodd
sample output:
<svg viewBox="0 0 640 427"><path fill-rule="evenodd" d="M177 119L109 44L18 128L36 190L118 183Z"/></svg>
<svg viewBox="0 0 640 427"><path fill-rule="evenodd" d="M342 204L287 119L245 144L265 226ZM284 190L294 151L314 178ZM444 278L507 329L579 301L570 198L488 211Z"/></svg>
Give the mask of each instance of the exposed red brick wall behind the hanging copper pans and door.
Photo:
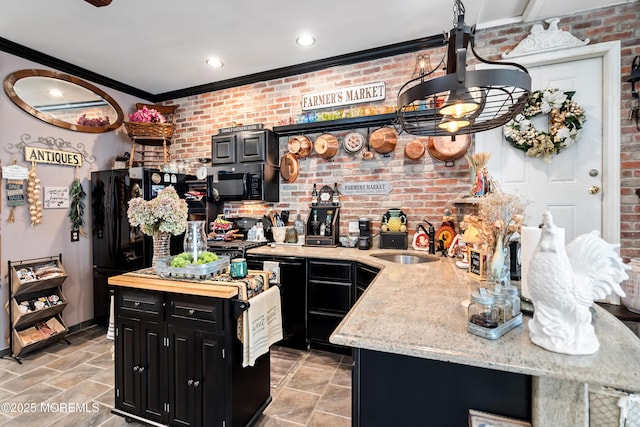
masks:
<svg viewBox="0 0 640 427"><path fill-rule="evenodd" d="M640 27L637 22L640 22L640 3L634 2L563 17L559 23L560 28L579 39L589 38L591 44L621 40L621 243L622 253L628 257L640 256L640 206L635 194L636 188L640 188L640 132L628 120L631 96L630 84L626 82L633 57L640 54ZM500 53L513 49L526 37L533 24L479 31L476 43L478 53L483 57L498 59ZM448 27L443 27L443 30L448 30ZM217 133L217 129L234 123L264 123L271 128L290 120L295 121L301 112L301 95L305 93L384 81L387 98L371 107L395 106L400 86L410 79L414 70L416 55L429 53L435 66L443 52L444 49L439 48L398 55L172 100L168 103L179 105L178 127L171 147L173 156L185 161L210 157L211 135ZM369 130L359 131L366 134ZM340 139L346 133L334 134ZM318 135L307 136L313 140ZM446 167L428 155L418 161L408 160L403 150L412 138L410 135L400 135L390 157L376 154L371 161L351 157L344 151L340 151L333 162L312 155L300 162L300 174L294 183L281 184L280 203L275 206L247 205L242 212L262 215L268 209L288 209L292 218L298 212L306 216L313 183L333 186L334 182L387 180L394 187L389 196L342 198L340 229L343 232L347 229L347 221L361 216L372 218L377 227L382 214L391 207L400 207L407 213L410 229L414 229L423 218L439 224L447 202L469 190L467 163L462 158L453 167ZM286 142L286 138L281 138L281 153L286 151Z"/></svg>

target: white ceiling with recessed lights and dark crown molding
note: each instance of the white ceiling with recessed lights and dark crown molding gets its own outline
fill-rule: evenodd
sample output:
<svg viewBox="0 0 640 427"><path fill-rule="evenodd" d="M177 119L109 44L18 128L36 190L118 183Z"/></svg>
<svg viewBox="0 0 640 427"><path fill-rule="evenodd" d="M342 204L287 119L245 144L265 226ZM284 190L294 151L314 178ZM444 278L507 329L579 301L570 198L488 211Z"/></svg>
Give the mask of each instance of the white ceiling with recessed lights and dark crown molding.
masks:
<svg viewBox="0 0 640 427"><path fill-rule="evenodd" d="M492 27L633 1L467 0L466 22ZM113 0L97 8L83 0L4 0L0 37L159 94L442 34L453 26L453 4ZM302 32L316 44L296 45ZM206 65L210 56L224 67Z"/></svg>

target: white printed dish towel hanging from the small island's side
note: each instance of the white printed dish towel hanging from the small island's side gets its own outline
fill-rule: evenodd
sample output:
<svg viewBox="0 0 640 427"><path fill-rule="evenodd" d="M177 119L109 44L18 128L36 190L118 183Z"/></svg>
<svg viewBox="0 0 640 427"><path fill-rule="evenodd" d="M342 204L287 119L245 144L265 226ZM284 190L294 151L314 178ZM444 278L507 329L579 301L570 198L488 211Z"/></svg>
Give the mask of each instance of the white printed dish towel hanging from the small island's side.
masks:
<svg viewBox="0 0 640 427"><path fill-rule="evenodd" d="M258 357L283 337L280 288L269 288L249 302L249 308L242 313L243 368L255 365Z"/></svg>

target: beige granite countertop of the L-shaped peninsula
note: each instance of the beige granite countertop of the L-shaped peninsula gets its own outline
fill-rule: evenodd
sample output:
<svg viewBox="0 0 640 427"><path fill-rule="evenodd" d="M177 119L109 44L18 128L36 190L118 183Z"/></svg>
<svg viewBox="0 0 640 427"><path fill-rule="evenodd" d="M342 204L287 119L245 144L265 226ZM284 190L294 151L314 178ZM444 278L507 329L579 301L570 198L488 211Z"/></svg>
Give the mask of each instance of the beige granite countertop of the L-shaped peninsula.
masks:
<svg viewBox="0 0 640 427"><path fill-rule="evenodd" d="M600 350L593 355L558 354L534 345L527 326L530 316L522 326L488 340L467 332L466 304L471 289L481 282L451 259L403 265L371 256L382 252L400 251L287 245L249 251L347 259L381 268L331 335L335 344L640 391L640 339L601 307L595 306Z"/></svg>

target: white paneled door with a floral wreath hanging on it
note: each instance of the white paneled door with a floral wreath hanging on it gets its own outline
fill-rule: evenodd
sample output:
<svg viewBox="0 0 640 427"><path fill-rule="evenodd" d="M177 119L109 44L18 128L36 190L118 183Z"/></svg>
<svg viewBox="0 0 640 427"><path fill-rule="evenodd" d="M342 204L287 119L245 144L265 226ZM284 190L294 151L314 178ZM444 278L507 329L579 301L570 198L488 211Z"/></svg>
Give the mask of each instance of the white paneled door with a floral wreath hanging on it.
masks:
<svg viewBox="0 0 640 427"><path fill-rule="evenodd" d="M551 87L575 91L573 100L586 112L582 134L554 155L552 163L513 148L501 127L476 134L475 151L492 153L487 167L502 190L526 194L531 200L527 225L539 224L542 212L549 210L556 225L565 228L567 242L591 230L602 232L602 69L601 57L528 67L532 91ZM538 115L532 122L536 129L548 130L547 115Z"/></svg>

